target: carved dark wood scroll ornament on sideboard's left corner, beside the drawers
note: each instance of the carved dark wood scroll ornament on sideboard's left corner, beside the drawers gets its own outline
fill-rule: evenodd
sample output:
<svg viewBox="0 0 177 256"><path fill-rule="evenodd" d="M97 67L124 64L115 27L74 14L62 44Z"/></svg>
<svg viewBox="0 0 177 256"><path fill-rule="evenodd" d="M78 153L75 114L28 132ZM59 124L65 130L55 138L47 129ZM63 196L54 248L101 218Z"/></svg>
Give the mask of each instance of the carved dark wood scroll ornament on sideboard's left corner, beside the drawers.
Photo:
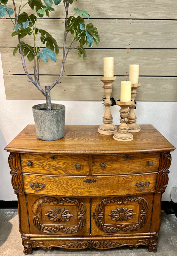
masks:
<svg viewBox="0 0 177 256"><path fill-rule="evenodd" d="M11 169L10 174L12 175L12 187L14 189L14 193L22 194L23 181L22 181L20 154L10 153L8 162L9 162L9 167Z"/></svg>

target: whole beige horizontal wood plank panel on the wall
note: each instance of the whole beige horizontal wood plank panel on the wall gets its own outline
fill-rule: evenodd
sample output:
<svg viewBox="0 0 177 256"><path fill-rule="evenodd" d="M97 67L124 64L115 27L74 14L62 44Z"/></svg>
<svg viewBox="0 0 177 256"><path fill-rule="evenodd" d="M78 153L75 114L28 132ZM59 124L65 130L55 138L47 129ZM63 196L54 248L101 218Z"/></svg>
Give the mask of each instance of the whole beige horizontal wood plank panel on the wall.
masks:
<svg viewBox="0 0 177 256"><path fill-rule="evenodd" d="M20 1L16 0L16 3ZM128 79L129 64L138 63L142 86L138 89L137 100L177 101L176 0L78 0L70 6L69 15L74 7L86 10L91 15L92 19L86 22L97 26L101 44L87 49L86 62L78 59L77 51L70 52L65 64L65 76L62 83L51 91L52 99L101 100L104 92L99 76L103 75L103 57L113 56L114 74L117 76L112 94L115 98L120 94L120 81ZM62 47L60 28L64 25L64 8L62 4L55 8L58 11L50 18L40 19L38 27L44 23L45 30L50 31L58 39L59 47ZM26 6L24 11L28 9ZM6 97L42 99L43 95L23 75L20 55L16 55L17 58L12 55L17 38L10 36L13 29L10 23L9 19L0 19ZM57 30L53 29L56 27ZM61 50L57 56L59 58ZM32 74L33 64L26 63ZM56 64L49 60L47 64L42 61L40 64L40 73L45 74L41 76L44 86L58 75L60 62Z"/></svg>

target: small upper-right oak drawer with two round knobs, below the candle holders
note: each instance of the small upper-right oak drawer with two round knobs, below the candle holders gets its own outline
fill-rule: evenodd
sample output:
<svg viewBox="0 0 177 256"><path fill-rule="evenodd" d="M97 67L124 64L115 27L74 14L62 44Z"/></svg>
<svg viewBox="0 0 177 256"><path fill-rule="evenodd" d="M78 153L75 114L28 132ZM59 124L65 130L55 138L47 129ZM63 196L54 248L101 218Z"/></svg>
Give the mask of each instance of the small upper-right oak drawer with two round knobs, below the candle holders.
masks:
<svg viewBox="0 0 177 256"><path fill-rule="evenodd" d="M92 174L158 171L160 153L92 156Z"/></svg>

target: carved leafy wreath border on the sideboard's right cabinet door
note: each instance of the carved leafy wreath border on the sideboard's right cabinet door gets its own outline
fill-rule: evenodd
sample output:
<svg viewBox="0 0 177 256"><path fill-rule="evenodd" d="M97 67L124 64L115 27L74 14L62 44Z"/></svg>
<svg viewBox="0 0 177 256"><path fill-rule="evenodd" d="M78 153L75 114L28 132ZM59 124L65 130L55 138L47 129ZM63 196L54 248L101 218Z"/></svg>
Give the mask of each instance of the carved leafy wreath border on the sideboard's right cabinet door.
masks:
<svg viewBox="0 0 177 256"><path fill-rule="evenodd" d="M140 210L140 214L139 214L139 219L140 219L139 222L136 224L133 224L133 225L132 224L118 224L116 226L110 226L110 227L107 225L104 225L104 223L103 223L104 212L102 211L102 209L107 203L114 203L114 202L117 202L119 205L128 204L128 202L137 202L138 204L140 204L142 209ZM128 209L128 208L125 208L125 209ZM98 216L95 219L95 223L100 230L102 230L103 232L106 232L106 233L117 233L120 230L123 230L125 232L133 232L133 231L136 231L136 230L142 228L145 225L145 223L147 221L146 212L148 211L148 209L149 209L149 205L148 205L147 201L142 197L130 196L130 197L126 197L124 199L122 199L120 197L105 198L102 201L100 201L96 207L96 213ZM113 211L115 211L115 210L113 210ZM132 212L133 212L133 210L132 210Z"/></svg>

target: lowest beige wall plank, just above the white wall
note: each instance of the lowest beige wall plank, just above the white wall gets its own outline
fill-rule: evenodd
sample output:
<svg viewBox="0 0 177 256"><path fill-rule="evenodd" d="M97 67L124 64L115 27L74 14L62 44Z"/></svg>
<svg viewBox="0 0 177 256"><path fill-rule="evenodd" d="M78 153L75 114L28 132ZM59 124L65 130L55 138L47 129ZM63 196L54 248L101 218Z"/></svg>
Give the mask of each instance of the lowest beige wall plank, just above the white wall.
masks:
<svg viewBox="0 0 177 256"><path fill-rule="evenodd" d="M45 85L52 84L57 76L41 76L43 89ZM112 96L120 97L120 83L126 76L117 76L114 82ZM31 83L27 82L26 75L4 75L7 99L44 99L44 95ZM136 100L141 101L177 101L177 77L139 77L141 87L138 88ZM102 82L99 76L63 76L61 83L51 90L52 99L66 100L100 100L103 97ZM72 86L71 86L72 84ZM167 90L168 88L168 90ZM156 93L158 91L158 93ZM91 93L92 92L92 93Z"/></svg>

